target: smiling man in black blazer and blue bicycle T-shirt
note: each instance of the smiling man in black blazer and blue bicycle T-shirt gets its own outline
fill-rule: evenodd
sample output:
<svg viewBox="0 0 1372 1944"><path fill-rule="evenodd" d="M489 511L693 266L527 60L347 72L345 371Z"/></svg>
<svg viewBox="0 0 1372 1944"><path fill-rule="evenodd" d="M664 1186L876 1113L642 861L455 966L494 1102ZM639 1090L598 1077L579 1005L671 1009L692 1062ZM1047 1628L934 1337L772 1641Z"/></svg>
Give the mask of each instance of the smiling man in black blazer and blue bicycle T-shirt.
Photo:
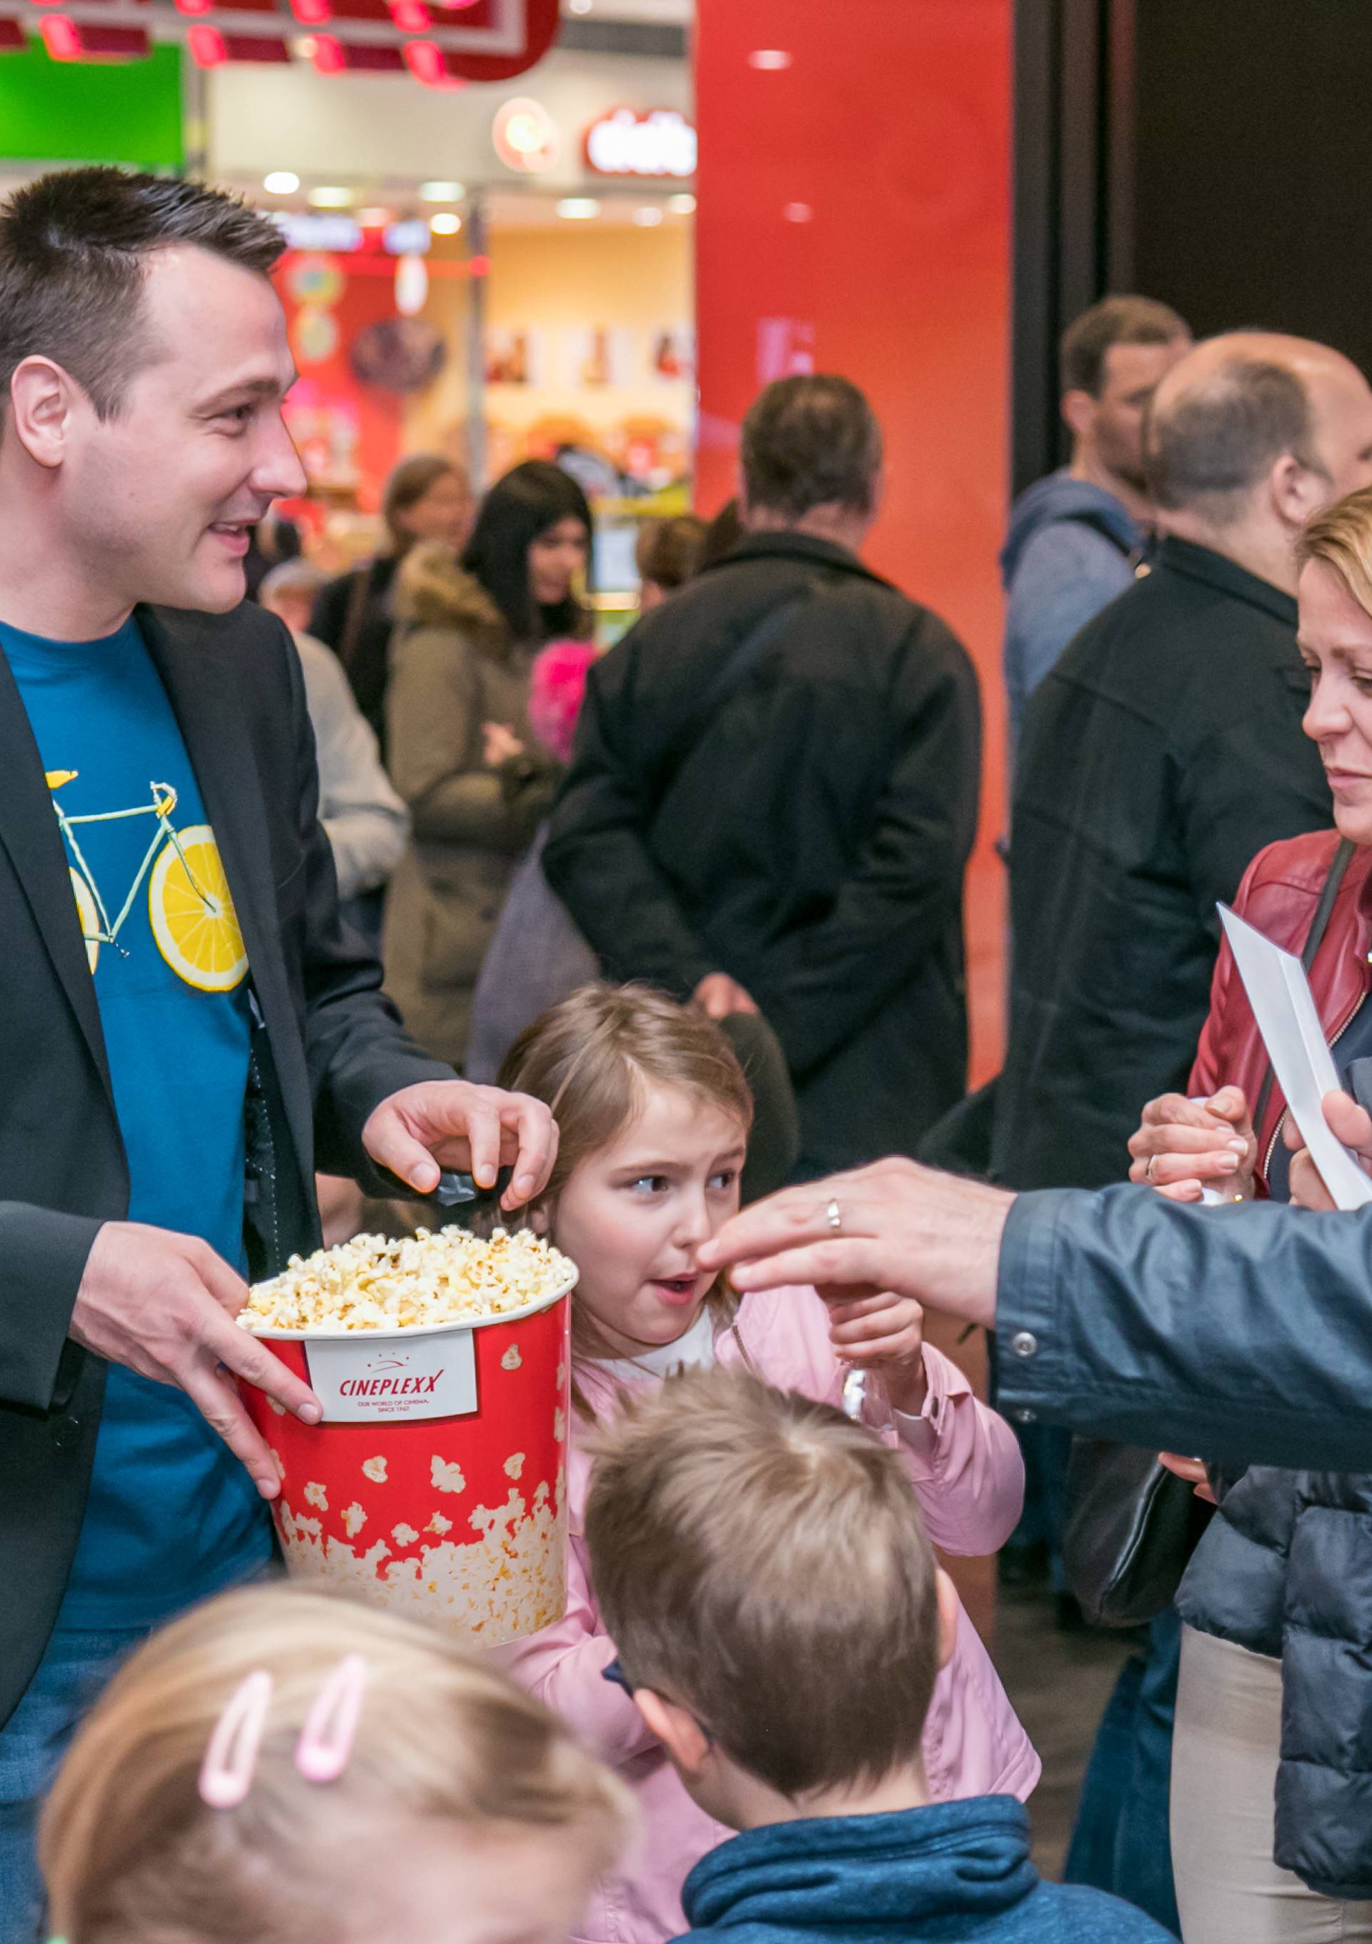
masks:
<svg viewBox="0 0 1372 1944"><path fill-rule="evenodd" d="M428 1194L503 1163L513 1207L556 1145L404 1034L338 921L299 663L243 603L251 527L305 486L280 247L115 169L0 210L4 1944L84 1701L268 1557L233 1372L319 1404L233 1316L319 1244L315 1168Z"/></svg>

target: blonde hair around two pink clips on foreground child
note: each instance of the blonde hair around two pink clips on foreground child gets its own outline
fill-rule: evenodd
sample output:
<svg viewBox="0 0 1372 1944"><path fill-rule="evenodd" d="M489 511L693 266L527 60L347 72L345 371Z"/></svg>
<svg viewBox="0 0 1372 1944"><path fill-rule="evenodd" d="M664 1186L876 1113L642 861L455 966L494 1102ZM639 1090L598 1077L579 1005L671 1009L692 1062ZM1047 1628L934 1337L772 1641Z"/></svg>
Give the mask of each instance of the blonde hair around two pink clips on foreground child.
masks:
<svg viewBox="0 0 1372 1944"><path fill-rule="evenodd" d="M309 1783L295 1748L346 1654L367 1670L354 1752L338 1781ZM210 1736L258 1668L272 1701L253 1787L208 1808ZM567 1831L591 1874L618 1858L626 1800L544 1707L441 1635L255 1588L167 1627L115 1676L52 1787L39 1860L66 1944L305 1944L338 1936L338 1864L381 1820Z"/></svg>

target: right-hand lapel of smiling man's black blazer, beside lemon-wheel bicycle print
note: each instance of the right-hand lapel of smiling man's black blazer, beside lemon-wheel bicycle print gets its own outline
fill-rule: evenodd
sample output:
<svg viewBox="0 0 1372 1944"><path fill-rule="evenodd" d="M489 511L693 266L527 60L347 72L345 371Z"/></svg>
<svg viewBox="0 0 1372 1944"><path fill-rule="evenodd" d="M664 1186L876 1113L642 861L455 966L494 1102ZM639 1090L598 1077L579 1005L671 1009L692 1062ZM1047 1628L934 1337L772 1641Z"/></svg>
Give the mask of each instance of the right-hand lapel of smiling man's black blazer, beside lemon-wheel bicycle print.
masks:
<svg viewBox="0 0 1372 1944"><path fill-rule="evenodd" d="M181 608L138 608L148 651L200 785L204 811L233 892L276 1077L307 1184L313 1184L313 1102L295 1007L276 923L276 883L260 780L243 706L233 642L204 616Z"/></svg>

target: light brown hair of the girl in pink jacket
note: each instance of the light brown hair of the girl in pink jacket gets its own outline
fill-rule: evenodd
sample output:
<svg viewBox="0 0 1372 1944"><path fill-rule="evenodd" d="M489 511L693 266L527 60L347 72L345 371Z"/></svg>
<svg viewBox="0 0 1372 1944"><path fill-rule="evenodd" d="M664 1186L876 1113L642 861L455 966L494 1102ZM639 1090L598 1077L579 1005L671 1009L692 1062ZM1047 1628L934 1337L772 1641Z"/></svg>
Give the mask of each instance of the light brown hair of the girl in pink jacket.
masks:
<svg viewBox="0 0 1372 1944"><path fill-rule="evenodd" d="M519 1034L499 1085L544 1100L558 1122L558 1159L540 1198L554 1209L575 1170L643 1110L647 1089L676 1087L752 1128L752 1093L738 1056L700 1007L678 1005L651 986L583 986ZM723 1279L709 1302L729 1320L735 1299ZM597 1355L585 1318L571 1304L571 1345ZM573 1390L573 1402L585 1409Z"/></svg>

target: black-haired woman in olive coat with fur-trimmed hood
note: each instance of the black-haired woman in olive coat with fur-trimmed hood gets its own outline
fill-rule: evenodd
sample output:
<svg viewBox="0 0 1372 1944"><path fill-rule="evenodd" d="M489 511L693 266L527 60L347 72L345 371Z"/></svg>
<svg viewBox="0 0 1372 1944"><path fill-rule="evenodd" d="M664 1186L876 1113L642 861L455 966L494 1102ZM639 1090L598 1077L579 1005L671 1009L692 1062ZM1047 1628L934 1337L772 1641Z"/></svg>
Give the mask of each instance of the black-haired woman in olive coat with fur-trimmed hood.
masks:
<svg viewBox="0 0 1372 1944"><path fill-rule="evenodd" d="M585 494L531 459L492 486L461 566L424 544L396 579L387 723L414 838L387 896L387 989L455 1065L511 877L562 774L529 725L529 673L548 642L591 634L589 548Z"/></svg>

